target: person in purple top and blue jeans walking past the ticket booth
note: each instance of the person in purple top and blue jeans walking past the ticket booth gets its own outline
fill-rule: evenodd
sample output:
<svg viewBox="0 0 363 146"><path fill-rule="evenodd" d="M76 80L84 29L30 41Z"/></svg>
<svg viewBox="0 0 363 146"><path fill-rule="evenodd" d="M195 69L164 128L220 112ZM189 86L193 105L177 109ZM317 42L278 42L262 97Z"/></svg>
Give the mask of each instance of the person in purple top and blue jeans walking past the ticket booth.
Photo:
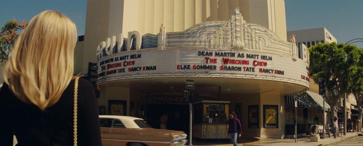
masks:
<svg viewBox="0 0 363 146"><path fill-rule="evenodd" d="M238 146L237 135L238 137L241 137L241 133L242 133L241 122L237 118L237 114L231 111L231 113L229 113L228 134L231 135L233 146Z"/></svg>

